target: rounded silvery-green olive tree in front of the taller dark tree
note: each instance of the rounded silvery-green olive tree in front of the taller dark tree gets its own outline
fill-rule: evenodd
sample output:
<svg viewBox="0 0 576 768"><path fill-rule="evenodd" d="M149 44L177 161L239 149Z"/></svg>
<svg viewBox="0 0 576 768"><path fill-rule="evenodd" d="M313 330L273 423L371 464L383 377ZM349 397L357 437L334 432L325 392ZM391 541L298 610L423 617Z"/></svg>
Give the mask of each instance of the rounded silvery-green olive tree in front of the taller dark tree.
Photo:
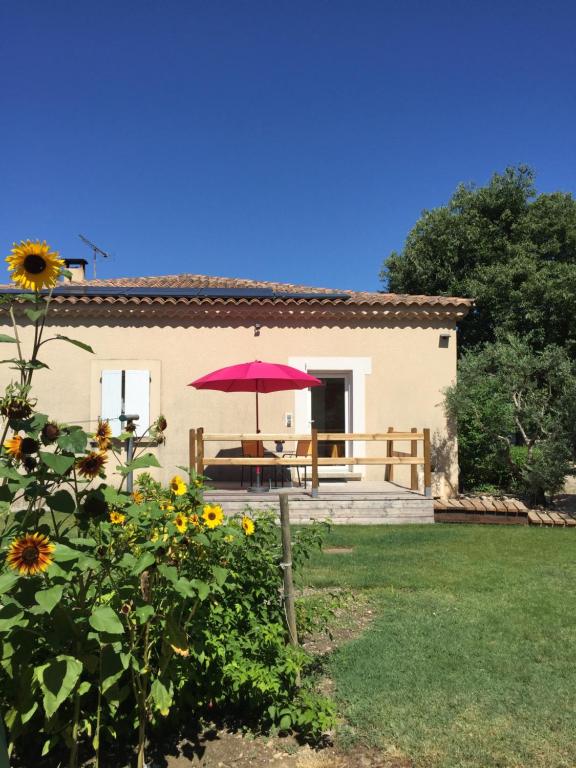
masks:
<svg viewBox="0 0 576 768"><path fill-rule="evenodd" d="M534 351L510 336L466 351L446 407L467 489L496 486L543 504L562 487L575 442L576 375L561 347Z"/></svg>

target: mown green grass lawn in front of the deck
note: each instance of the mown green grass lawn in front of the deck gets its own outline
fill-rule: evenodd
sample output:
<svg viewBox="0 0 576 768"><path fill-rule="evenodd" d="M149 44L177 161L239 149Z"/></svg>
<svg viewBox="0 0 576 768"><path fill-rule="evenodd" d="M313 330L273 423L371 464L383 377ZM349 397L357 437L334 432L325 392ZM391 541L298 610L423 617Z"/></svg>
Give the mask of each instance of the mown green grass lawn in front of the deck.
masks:
<svg viewBox="0 0 576 768"><path fill-rule="evenodd" d="M576 531L335 526L304 582L369 594L332 657L339 740L416 768L576 765Z"/></svg>

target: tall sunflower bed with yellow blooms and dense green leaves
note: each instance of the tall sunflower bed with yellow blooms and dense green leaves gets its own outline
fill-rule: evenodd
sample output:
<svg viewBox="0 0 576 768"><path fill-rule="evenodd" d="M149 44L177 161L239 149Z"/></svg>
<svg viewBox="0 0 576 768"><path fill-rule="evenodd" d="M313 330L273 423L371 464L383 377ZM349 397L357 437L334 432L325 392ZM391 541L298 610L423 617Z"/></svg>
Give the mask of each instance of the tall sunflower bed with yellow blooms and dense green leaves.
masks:
<svg viewBox="0 0 576 768"><path fill-rule="evenodd" d="M16 354L0 398L0 716L12 754L30 764L67 751L70 768L101 766L121 741L143 768L157 734L231 714L318 736L332 705L287 642L274 519L226 519L204 503L203 478L165 488L147 473L152 453L123 461L127 435L112 438L107 422L86 431L40 413L45 345L92 350L46 323L65 276L58 254L26 241L7 261L15 289L0 310L13 334L0 343ZM166 428L159 416L148 438L161 443ZM314 527L300 533L294 562L318 541Z"/></svg>

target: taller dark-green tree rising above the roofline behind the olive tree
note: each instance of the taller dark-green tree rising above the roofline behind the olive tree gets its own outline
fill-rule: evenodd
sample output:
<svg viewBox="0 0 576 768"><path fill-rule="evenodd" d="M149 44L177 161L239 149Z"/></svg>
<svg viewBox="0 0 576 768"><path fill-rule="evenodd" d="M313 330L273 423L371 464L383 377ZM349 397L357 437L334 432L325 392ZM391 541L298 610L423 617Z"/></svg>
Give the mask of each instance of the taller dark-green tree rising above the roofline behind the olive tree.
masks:
<svg viewBox="0 0 576 768"><path fill-rule="evenodd" d="M485 187L460 185L447 205L424 211L381 278L392 292L474 298L461 349L508 332L576 356L576 200L536 195L526 166Z"/></svg>

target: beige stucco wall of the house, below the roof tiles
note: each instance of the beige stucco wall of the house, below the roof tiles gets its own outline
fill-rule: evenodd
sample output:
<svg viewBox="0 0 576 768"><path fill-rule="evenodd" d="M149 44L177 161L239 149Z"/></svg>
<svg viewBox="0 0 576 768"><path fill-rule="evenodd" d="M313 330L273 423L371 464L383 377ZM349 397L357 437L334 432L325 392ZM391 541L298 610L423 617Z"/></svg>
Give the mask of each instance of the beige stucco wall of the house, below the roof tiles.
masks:
<svg viewBox="0 0 576 768"><path fill-rule="evenodd" d="M140 326L123 319L95 320L90 326L58 320L56 332L90 344L90 355L64 342L50 342L42 359L49 371L35 375L38 408L59 421L94 428L100 408L99 371L116 361L117 368L152 371L151 419L163 413L168 420L167 442L154 449L167 479L188 461L188 430L203 426L210 432L254 431L254 395L197 391L193 379L233 363L259 359L288 363L291 357L361 357L371 361L365 378L365 426L369 432L429 427L432 432L434 493L457 486L455 446L449 437L442 407L442 390L456 376L456 332L451 321L380 321L374 327L273 327L263 325L255 336L252 326L214 322ZM9 328L0 332L10 333ZM449 334L448 347L440 336ZM24 342L29 340L26 329ZM6 345L7 346L7 345ZM10 350L11 351L11 350ZM102 361L106 361L104 364ZM6 366L1 383L8 381ZM16 375L14 373L14 375ZM287 432L284 414L294 413L295 393L278 392L260 398L263 432ZM271 446L273 447L273 446ZM401 447L401 446L399 446ZM384 444L368 445L368 455L383 455ZM434 468L434 467L433 467ZM367 479L384 477L384 467L369 467ZM407 480L407 474L397 474Z"/></svg>

